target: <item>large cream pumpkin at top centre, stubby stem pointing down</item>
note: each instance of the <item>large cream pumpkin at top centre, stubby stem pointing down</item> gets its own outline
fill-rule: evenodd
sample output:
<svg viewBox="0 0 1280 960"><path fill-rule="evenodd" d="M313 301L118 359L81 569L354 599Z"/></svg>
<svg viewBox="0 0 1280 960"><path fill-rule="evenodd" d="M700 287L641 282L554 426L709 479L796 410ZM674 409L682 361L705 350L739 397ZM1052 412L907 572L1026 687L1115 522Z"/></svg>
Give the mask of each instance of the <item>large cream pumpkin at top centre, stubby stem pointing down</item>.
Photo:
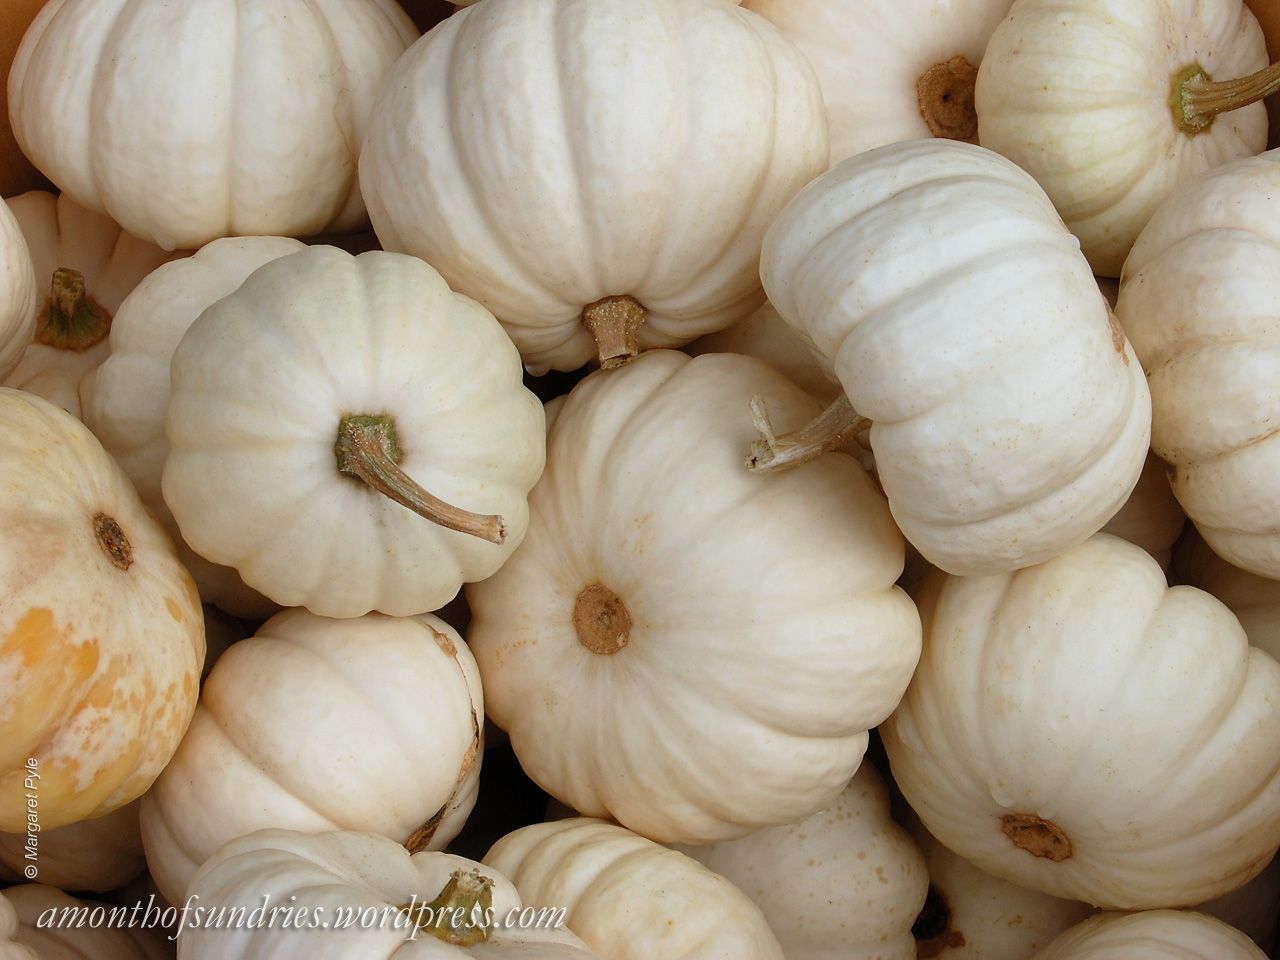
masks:
<svg viewBox="0 0 1280 960"><path fill-rule="evenodd" d="M800 52L727 0L497 0L396 64L360 180L387 250L484 303L531 369L575 370L755 310L760 239L826 127Z"/></svg>

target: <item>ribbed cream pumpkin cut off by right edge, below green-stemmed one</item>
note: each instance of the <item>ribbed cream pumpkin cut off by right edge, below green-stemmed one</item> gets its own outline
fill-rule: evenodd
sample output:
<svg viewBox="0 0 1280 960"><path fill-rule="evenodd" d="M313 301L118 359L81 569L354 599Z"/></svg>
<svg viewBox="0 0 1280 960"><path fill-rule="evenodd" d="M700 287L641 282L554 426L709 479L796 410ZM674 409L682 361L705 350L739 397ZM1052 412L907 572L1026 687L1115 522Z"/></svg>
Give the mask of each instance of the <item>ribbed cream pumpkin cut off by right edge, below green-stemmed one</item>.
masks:
<svg viewBox="0 0 1280 960"><path fill-rule="evenodd" d="M1151 445L1213 552L1280 579L1280 150L1178 191L1134 246L1116 315L1151 383Z"/></svg>

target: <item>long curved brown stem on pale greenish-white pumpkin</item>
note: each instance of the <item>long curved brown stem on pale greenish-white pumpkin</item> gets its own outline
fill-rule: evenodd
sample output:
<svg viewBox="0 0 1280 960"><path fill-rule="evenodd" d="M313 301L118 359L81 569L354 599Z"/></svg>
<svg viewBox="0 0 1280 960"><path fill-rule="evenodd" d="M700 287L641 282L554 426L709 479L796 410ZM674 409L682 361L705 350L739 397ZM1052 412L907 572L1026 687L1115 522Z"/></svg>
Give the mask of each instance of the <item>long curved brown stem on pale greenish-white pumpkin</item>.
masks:
<svg viewBox="0 0 1280 960"><path fill-rule="evenodd" d="M507 525L499 516L471 513L433 497L399 468L401 449L389 416L344 416L334 444L338 471L365 481L371 489L408 507L448 530L500 544Z"/></svg>

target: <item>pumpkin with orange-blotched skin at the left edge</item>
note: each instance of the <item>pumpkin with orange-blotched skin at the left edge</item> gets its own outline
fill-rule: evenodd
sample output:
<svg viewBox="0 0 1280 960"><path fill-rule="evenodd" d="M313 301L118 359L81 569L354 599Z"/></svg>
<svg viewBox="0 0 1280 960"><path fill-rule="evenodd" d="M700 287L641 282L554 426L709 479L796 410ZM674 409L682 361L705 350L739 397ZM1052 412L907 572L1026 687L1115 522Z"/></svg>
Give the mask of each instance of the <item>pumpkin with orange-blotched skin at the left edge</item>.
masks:
<svg viewBox="0 0 1280 960"><path fill-rule="evenodd" d="M52 829L146 791L204 658L195 584L125 475L69 413L0 388L0 831L26 833L28 794Z"/></svg>

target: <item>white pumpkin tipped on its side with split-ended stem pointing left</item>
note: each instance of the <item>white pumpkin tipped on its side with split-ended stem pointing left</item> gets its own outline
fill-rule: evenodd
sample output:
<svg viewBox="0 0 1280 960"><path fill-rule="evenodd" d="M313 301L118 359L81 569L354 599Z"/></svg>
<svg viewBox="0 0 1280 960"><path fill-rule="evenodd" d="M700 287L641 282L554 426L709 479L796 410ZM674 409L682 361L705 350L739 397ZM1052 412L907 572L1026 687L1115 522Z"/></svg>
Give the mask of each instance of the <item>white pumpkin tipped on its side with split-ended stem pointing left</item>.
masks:
<svg viewBox="0 0 1280 960"><path fill-rule="evenodd" d="M764 435L785 468L865 429L906 539L950 573L1030 566L1129 497L1142 369L1043 191L988 150L916 140L806 187L760 262L778 314L845 388L815 429Z"/></svg>

